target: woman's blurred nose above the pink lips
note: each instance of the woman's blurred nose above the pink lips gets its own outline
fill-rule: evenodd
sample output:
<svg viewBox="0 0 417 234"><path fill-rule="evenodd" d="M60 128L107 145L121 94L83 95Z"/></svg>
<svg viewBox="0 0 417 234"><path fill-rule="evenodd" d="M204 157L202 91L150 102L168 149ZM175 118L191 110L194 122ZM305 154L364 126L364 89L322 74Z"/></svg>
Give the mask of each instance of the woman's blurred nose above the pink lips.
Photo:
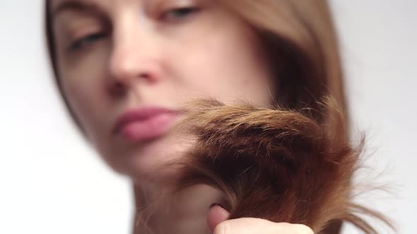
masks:
<svg viewBox="0 0 417 234"><path fill-rule="evenodd" d="M159 80L158 45L150 30L131 22L121 25L118 30L114 28L107 84L110 94L124 95L135 85L150 85Z"/></svg>

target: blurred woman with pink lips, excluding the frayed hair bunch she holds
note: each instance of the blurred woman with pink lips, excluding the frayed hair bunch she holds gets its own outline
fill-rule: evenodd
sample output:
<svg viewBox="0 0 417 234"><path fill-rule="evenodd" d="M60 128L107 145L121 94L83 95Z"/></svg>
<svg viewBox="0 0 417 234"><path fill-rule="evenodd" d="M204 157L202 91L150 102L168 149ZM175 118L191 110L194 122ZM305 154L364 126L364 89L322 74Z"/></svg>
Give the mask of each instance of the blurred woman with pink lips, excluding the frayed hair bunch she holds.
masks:
<svg viewBox="0 0 417 234"><path fill-rule="evenodd" d="M132 179L136 207L170 186L175 171L160 166L192 146L192 139L172 131L190 99L246 99L300 110L319 109L317 101L332 94L346 113L326 1L47 0L47 36L71 115L102 158ZM331 115L315 118L327 123ZM257 218L226 221L225 209L210 206L221 199L211 187L194 187L169 211L157 206L148 227L312 233ZM339 229L334 223L327 233ZM146 232L141 225L134 231Z"/></svg>

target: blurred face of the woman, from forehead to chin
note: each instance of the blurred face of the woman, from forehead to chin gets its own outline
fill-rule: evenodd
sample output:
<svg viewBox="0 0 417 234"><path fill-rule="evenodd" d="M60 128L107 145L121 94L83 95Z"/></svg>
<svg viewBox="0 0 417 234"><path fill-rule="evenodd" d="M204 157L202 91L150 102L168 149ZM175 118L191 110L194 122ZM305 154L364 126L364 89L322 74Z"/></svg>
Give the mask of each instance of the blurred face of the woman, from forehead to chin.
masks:
<svg viewBox="0 0 417 234"><path fill-rule="evenodd" d="M49 9L64 95L107 163L132 178L192 144L172 130L187 101L271 103L259 38L216 1L52 0Z"/></svg>

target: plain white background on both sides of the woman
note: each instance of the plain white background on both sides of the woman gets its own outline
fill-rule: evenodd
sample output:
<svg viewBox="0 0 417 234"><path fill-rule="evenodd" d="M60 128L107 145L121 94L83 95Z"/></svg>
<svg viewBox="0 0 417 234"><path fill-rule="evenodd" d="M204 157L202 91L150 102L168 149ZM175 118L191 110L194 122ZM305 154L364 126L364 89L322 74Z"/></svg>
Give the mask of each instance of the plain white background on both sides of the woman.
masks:
<svg viewBox="0 0 417 234"><path fill-rule="evenodd" d="M392 216L399 233L416 233L417 3L331 5L353 132L365 131L368 164L394 193L359 201ZM40 0L0 1L0 233L129 233L131 187L69 124L47 63L42 10Z"/></svg>

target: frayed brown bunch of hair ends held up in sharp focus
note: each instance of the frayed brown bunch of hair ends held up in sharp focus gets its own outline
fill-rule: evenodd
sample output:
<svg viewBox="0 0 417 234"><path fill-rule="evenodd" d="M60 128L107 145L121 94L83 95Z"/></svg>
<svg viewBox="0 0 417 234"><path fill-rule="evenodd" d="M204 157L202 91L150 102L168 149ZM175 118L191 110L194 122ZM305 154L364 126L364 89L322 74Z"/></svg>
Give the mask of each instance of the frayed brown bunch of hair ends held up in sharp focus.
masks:
<svg viewBox="0 0 417 234"><path fill-rule="evenodd" d="M334 100L320 104L343 122ZM180 162L177 190L205 184L225 193L230 218L264 218L300 223L329 233L331 223L347 221L367 234L377 230L362 216L394 230L383 214L353 202L351 179L360 168L363 141L353 147L343 135L329 135L310 111L249 104L225 105L216 99L192 102L181 128L196 144Z"/></svg>

